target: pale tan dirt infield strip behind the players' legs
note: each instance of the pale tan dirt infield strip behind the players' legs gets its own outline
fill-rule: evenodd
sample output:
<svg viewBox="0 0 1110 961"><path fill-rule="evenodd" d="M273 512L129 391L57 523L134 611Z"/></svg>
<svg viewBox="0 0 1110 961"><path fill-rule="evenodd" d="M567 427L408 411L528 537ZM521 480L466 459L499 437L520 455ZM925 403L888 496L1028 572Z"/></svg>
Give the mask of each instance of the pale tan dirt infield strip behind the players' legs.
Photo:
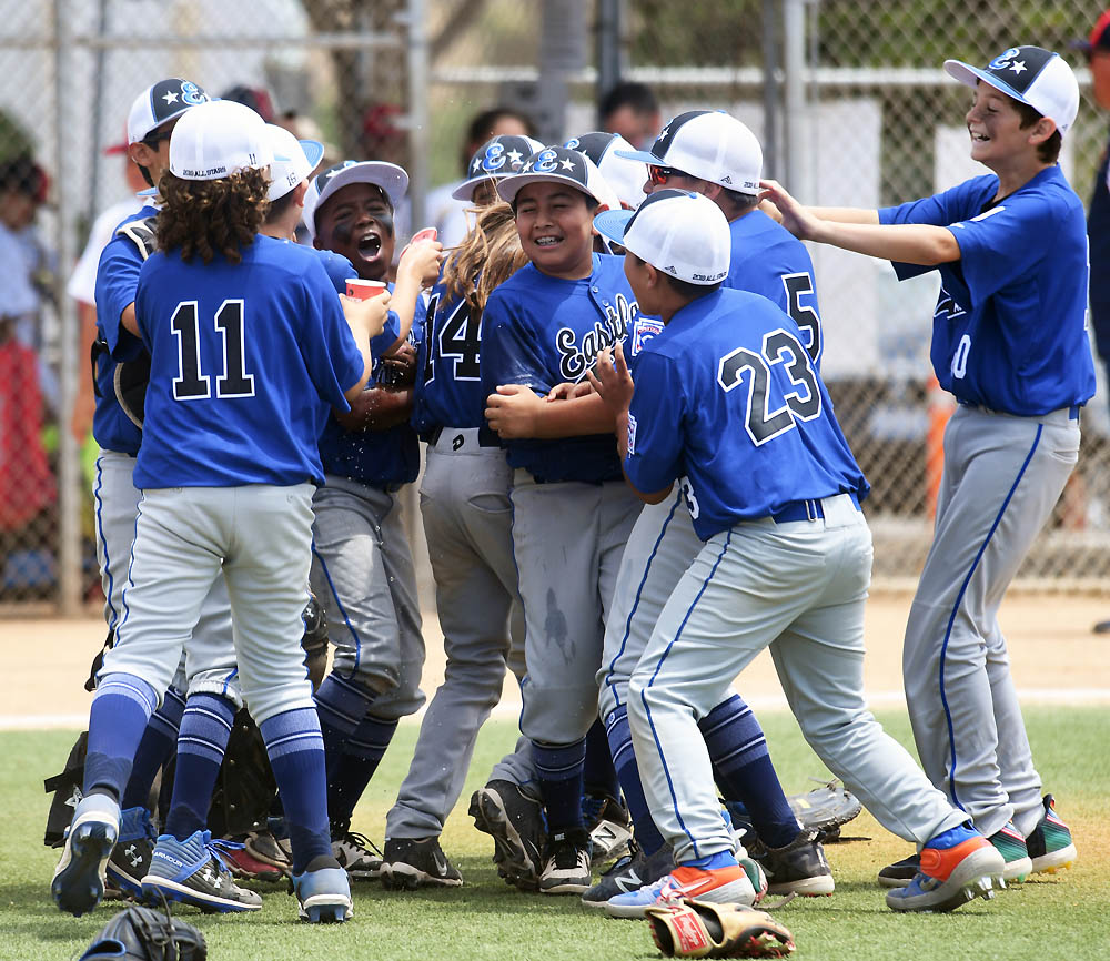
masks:
<svg viewBox="0 0 1110 961"><path fill-rule="evenodd" d="M877 594L868 603L867 689L875 706L901 700L901 638L908 594ZM1110 635L1091 625L1110 618L1103 600L1015 595L1001 611L1013 662L1013 677L1028 701L1110 702ZM427 664L424 690L443 680L443 644L434 613L425 613ZM104 635L98 614L75 619L0 619L0 728L73 727L88 715L82 687L89 664ZM770 658L765 654L738 685L753 704L785 704ZM503 709L519 701L515 682L506 684Z"/></svg>

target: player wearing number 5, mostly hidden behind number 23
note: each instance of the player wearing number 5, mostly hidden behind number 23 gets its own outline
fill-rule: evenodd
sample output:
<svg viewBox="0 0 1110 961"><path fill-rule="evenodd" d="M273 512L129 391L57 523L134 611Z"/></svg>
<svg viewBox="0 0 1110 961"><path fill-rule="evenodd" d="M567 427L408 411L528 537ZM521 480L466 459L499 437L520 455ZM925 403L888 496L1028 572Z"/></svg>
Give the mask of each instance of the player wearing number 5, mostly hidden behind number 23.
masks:
<svg viewBox="0 0 1110 961"><path fill-rule="evenodd" d="M789 231L757 209L763 150L751 131L720 111L690 111L672 120L649 151L618 149L616 155L623 163L648 164L642 194L680 183L720 208L731 236L723 285L761 294L790 313L805 328L819 368L820 321L813 263ZM606 907L614 894L655 881L673 867L670 849L644 800L628 728L627 688L664 603L702 549L683 503L684 486L685 482L663 503L645 506L637 518L606 621L598 675L601 716L633 812L639 851L583 896L588 907ZM821 846L811 832L801 831L791 812L750 708L729 692L698 726L722 795L727 802L743 802L753 820L759 841L754 850L768 873L769 891L831 893L835 884Z"/></svg>

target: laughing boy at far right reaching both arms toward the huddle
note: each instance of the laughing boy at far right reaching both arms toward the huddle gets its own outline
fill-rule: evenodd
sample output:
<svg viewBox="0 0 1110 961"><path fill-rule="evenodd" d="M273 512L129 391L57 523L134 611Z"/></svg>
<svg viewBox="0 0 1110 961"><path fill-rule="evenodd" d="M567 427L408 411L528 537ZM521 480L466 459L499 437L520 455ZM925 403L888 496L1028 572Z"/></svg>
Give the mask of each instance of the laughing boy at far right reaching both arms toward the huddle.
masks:
<svg viewBox="0 0 1110 961"><path fill-rule="evenodd" d="M945 69L975 88L971 156L993 173L879 211L803 208L770 182L767 195L800 237L890 260L899 277L940 273L932 365L959 407L906 627L906 700L926 773L1020 880L1076 857L1041 798L998 608L1078 461L1094 393L1083 209L1057 164L1079 85L1040 47ZM916 867L880 880L905 883Z"/></svg>

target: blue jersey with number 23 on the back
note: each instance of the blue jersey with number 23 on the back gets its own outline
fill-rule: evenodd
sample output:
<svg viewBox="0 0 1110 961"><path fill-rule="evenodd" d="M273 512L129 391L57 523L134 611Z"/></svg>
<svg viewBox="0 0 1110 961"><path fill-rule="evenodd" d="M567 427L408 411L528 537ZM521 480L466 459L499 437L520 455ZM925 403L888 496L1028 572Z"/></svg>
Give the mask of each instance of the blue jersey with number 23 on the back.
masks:
<svg viewBox="0 0 1110 961"><path fill-rule="evenodd" d="M706 294L637 362L625 473L645 493L682 479L698 537L867 480L801 330L766 297Z"/></svg>

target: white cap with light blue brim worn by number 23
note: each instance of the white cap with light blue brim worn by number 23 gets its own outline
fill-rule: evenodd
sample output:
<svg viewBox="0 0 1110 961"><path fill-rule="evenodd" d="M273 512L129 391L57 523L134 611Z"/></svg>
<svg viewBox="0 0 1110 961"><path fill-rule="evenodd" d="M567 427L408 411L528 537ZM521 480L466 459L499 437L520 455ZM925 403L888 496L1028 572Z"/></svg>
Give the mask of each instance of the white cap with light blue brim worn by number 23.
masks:
<svg viewBox="0 0 1110 961"><path fill-rule="evenodd" d="M700 193L657 190L634 211L605 211L594 229L642 261L690 284L728 276L733 237L720 208Z"/></svg>

